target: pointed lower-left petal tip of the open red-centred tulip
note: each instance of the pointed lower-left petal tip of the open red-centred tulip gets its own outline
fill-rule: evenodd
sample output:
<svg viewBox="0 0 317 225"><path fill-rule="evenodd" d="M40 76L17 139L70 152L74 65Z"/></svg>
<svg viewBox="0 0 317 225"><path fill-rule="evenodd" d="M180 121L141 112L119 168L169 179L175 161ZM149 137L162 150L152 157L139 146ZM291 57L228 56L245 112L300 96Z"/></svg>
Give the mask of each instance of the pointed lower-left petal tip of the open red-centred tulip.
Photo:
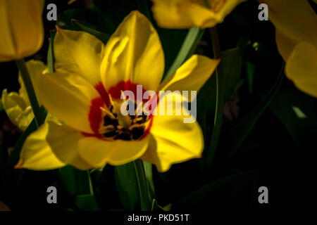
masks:
<svg viewBox="0 0 317 225"><path fill-rule="evenodd" d="M46 170L65 166L63 162L56 158L46 142L48 131L49 124L44 123L37 131L27 137L20 153L20 162L15 168Z"/></svg>

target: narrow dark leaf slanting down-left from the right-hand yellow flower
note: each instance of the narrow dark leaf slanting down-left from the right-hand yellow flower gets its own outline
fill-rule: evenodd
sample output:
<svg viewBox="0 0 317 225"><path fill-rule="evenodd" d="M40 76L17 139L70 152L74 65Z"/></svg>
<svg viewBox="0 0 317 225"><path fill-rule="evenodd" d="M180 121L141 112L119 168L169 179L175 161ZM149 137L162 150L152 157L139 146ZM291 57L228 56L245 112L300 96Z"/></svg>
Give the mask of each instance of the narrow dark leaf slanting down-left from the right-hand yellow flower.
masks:
<svg viewBox="0 0 317 225"><path fill-rule="evenodd" d="M235 154L241 143L244 141L244 139L247 138L247 136L253 129L256 121L259 120L259 117L262 115L264 110L268 108L268 105L270 105L272 99L278 93L284 77L283 71L284 63L282 65L282 69L280 71L278 79L276 79L272 89L268 91L263 100L254 108L252 108L249 113L247 113L247 115L245 115L242 120L240 120L240 122L235 125L235 127L225 133L225 139L223 139L221 143L221 148L223 149L223 152L225 152L225 162L228 162L232 155Z"/></svg>

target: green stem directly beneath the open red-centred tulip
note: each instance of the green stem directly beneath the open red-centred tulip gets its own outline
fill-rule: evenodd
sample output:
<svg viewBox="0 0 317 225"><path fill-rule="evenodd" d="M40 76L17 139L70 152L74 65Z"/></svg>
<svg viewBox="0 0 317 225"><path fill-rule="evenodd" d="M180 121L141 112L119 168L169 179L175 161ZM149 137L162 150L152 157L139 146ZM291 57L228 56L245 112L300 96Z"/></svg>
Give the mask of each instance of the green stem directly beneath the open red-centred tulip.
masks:
<svg viewBox="0 0 317 225"><path fill-rule="evenodd" d="M139 200L142 211L151 210L151 203L149 203L149 195L147 189L147 177L145 176L144 166L142 160L135 160L135 174L137 176L137 185L139 189Z"/></svg>

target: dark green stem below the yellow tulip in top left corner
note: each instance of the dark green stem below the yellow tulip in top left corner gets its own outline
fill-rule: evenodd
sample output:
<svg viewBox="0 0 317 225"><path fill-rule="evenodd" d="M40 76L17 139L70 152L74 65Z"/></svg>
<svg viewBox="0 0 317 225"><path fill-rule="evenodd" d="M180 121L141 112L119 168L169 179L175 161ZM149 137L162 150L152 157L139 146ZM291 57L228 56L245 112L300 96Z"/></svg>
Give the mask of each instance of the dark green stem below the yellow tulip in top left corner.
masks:
<svg viewBox="0 0 317 225"><path fill-rule="evenodd" d="M35 95L35 91L33 89L33 85L31 82L30 74L27 71L27 67L25 65L25 60L23 58L15 60L16 65L20 70L21 77L23 79L23 83L25 85L25 89L27 90L27 96L29 97L33 113L35 115L35 122L37 127L39 127L43 122L43 117L41 110L39 109L39 103L37 101L37 96Z"/></svg>

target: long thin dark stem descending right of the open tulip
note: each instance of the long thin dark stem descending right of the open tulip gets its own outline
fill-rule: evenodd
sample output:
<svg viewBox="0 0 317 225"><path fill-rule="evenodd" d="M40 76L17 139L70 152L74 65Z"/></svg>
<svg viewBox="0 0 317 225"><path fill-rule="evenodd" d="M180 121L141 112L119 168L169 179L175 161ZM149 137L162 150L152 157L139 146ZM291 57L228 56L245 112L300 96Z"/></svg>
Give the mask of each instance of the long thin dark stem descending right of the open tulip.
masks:
<svg viewBox="0 0 317 225"><path fill-rule="evenodd" d="M219 43L219 37L216 27L211 27L209 29L210 35L211 35L211 41L213 44L213 55L215 59L220 59L221 57L221 50L220 50L220 43ZM222 63L218 65L216 68L216 114L215 119L213 121L213 134L211 137L211 144L209 146L209 150L206 155L206 166L210 167L213 158L216 153L216 148L218 146L218 139L220 136L220 130L223 123L223 94L221 90L221 84L219 76L222 75Z"/></svg>

